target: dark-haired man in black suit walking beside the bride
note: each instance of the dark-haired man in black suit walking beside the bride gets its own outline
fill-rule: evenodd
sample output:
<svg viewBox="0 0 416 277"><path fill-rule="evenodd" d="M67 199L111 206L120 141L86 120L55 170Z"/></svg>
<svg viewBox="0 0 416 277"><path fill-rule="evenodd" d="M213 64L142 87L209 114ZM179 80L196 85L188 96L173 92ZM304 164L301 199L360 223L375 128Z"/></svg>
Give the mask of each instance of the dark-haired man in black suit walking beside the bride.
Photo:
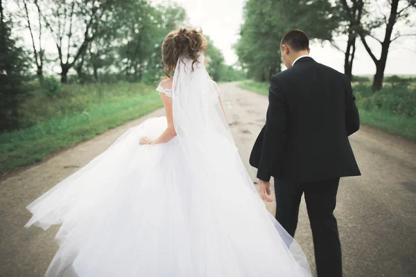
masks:
<svg viewBox="0 0 416 277"><path fill-rule="evenodd" d="M361 175L348 140L360 127L355 97L346 75L309 57L302 30L286 33L280 50L288 69L270 80L266 125L250 164L267 202L275 177L276 219L292 236L304 194L318 276L342 276L333 210L340 177Z"/></svg>

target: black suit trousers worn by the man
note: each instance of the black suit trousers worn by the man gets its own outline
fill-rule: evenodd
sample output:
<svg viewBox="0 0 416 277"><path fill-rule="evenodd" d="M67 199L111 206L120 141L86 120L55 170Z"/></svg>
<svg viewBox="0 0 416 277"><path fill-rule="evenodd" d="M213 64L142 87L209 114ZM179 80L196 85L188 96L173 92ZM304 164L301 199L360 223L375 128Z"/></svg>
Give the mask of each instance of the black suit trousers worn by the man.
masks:
<svg viewBox="0 0 416 277"><path fill-rule="evenodd" d="M305 195L318 277L343 275L341 244L333 211L340 178L293 184L275 178L276 220L295 236L299 206Z"/></svg>

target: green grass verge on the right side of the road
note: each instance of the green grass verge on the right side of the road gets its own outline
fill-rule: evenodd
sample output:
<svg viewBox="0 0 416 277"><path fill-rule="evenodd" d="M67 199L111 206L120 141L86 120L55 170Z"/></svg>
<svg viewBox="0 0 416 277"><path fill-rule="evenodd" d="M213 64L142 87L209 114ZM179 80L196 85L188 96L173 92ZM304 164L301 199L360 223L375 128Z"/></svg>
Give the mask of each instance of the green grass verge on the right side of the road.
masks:
<svg viewBox="0 0 416 277"><path fill-rule="evenodd" d="M239 87L268 95L266 82L245 81ZM416 90L414 83L406 88L385 84L385 89L371 93L370 82L353 83L361 123L416 141Z"/></svg>

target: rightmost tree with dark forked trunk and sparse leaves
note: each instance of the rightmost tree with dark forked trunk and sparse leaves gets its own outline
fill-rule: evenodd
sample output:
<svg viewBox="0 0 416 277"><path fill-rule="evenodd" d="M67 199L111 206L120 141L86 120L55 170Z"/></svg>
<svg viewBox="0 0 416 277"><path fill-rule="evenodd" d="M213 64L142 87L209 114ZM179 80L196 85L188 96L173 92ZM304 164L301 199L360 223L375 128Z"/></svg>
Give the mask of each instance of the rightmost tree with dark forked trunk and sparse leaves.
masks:
<svg viewBox="0 0 416 277"><path fill-rule="evenodd" d="M388 15L384 15L383 11L379 9L381 12L381 17L377 18L376 21L371 21L370 24L366 24L358 31L365 50L376 65L376 73L372 83L373 92L379 91L383 87L384 70L385 64L387 62L390 44L395 42L395 40L399 39L400 37L416 35L416 33L401 34L399 31L394 32L395 25L398 21L406 21L408 25L415 24L414 21L410 21L410 13L414 12L416 8L416 1L389 0L387 2L389 10ZM375 35L373 35L373 31L378 27L385 28L383 40L378 39ZM369 44L367 43L367 37L372 37L381 45L381 54L378 59L376 55L374 55L374 50L372 50L372 48L370 48Z"/></svg>

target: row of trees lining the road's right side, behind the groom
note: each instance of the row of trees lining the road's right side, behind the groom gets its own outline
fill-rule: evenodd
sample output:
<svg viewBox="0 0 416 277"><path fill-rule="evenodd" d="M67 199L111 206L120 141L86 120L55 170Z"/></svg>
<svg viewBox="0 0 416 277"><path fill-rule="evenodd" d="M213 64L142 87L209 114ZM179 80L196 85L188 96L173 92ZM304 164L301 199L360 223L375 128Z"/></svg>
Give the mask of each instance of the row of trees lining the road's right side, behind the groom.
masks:
<svg viewBox="0 0 416 277"><path fill-rule="evenodd" d="M281 37L293 28L302 29L311 39L327 40L343 51L345 74L352 78L356 44L361 41L376 66L372 81L375 92L383 87L392 42L404 36L416 37L414 29L411 31L415 19L415 0L248 0L235 48L248 76L268 81L281 71ZM397 25L409 31L400 32ZM333 42L340 35L347 37L345 46ZM380 47L370 47L370 39Z"/></svg>

